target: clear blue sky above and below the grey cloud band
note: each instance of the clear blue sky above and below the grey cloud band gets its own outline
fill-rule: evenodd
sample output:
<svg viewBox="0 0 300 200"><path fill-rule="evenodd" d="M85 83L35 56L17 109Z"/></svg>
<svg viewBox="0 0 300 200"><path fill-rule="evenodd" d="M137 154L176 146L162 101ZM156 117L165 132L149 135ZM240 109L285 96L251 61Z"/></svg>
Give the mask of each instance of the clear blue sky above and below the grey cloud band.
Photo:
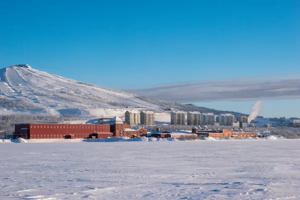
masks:
<svg viewBox="0 0 300 200"><path fill-rule="evenodd" d="M28 63L116 89L295 75L299 24L298 0L0 0L0 67ZM261 114L300 116L297 100L267 99L280 109Z"/></svg>

